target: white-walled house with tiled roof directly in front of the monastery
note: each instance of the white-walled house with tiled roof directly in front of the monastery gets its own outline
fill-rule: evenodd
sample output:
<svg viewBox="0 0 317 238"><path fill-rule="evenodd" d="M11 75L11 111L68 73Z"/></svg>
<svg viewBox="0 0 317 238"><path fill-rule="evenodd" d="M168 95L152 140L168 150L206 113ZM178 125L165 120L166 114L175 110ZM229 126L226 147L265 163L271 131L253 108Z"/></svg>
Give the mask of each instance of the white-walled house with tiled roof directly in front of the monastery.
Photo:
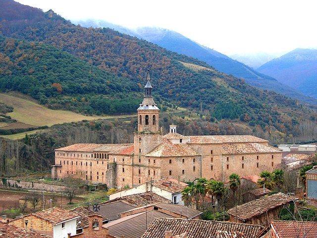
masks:
<svg viewBox="0 0 317 238"><path fill-rule="evenodd" d="M111 201L119 197L151 191L170 200L174 204L184 205L182 201L182 191L184 187L187 186L187 183L172 178L159 179L158 181L152 180L130 189L112 193L109 195L109 200Z"/></svg>

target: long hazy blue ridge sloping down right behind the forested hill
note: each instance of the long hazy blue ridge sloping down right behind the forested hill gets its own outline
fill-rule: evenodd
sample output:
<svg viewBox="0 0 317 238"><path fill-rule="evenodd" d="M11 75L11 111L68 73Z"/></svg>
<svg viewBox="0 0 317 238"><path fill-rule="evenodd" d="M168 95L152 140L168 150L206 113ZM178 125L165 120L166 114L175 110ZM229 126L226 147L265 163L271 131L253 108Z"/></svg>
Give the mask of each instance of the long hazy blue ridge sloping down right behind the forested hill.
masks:
<svg viewBox="0 0 317 238"><path fill-rule="evenodd" d="M204 47L175 31L158 27L129 29L99 19L73 20L72 22L84 27L108 27L123 34L147 40L169 51L205 61L221 72L244 78L252 86L272 90L287 97L317 105L317 100L302 95L300 91L295 90L291 86L284 85L273 77L257 72L248 65L237 60L232 60L208 47Z"/></svg>

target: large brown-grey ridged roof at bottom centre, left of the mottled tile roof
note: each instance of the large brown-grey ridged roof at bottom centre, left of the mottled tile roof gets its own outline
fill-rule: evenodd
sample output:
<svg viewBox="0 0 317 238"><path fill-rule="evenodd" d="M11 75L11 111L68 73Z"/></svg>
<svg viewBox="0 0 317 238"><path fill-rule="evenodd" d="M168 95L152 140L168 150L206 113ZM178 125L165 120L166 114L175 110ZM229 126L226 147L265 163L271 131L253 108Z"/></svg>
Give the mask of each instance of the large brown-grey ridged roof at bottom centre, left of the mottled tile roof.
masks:
<svg viewBox="0 0 317 238"><path fill-rule="evenodd" d="M109 235L115 237L140 238L155 218L173 218L157 210L151 210L120 218L103 225ZM164 237L165 238L165 237Z"/></svg>

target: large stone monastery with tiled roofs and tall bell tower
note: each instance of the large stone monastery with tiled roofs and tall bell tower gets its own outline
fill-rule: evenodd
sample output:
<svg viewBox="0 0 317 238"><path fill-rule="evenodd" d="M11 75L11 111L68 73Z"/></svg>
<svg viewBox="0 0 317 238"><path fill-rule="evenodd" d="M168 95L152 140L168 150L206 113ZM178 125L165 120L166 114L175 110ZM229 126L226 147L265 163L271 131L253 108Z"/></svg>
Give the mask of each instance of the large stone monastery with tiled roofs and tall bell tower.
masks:
<svg viewBox="0 0 317 238"><path fill-rule="evenodd" d="M167 177L225 181L232 173L243 177L280 165L281 150L255 136L184 136L177 133L176 125L170 125L164 135L152 89L148 74L133 143L74 144L56 149L52 177L76 175L109 188L123 188Z"/></svg>

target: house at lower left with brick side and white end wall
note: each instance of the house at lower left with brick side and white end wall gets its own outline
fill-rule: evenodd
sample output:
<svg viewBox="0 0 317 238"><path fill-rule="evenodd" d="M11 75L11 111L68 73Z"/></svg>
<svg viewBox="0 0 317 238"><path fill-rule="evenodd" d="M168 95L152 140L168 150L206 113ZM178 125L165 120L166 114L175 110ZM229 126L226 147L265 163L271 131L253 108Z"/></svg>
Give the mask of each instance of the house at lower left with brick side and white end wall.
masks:
<svg viewBox="0 0 317 238"><path fill-rule="evenodd" d="M21 229L32 229L53 238L66 238L68 234L76 235L76 219L78 218L80 216L77 213L53 207L10 220L9 224Z"/></svg>

